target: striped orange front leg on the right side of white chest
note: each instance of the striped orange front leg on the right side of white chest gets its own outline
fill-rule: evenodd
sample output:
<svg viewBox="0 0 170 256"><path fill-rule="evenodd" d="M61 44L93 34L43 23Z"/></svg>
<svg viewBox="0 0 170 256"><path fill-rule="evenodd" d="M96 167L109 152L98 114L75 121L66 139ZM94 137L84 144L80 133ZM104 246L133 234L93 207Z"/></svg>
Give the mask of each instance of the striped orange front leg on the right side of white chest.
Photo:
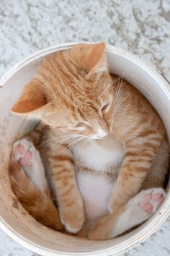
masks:
<svg viewBox="0 0 170 256"><path fill-rule="evenodd" d="M162 135L154 132L151 139L147 136L146 139L141 139L138 135L127 142L125 158L109 198L109 213L117 212L118 208L138 194L161 148L162 141Z"/></svg>

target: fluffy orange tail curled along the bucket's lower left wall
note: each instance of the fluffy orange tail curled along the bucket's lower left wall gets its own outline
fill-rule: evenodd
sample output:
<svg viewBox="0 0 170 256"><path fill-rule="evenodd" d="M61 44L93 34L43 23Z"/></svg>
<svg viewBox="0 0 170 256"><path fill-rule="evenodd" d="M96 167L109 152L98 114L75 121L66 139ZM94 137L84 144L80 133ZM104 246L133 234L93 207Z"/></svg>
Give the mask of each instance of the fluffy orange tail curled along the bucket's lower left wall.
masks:
<svg viewBox="0 0 170 256"><path fill-rule="evenodd" d="M9 161L9 178L12 191L18 197L24 208L40 223L57 231L63 230L63 225L55 208L50 190L44 192L35 187L16 161Z"/></svg>

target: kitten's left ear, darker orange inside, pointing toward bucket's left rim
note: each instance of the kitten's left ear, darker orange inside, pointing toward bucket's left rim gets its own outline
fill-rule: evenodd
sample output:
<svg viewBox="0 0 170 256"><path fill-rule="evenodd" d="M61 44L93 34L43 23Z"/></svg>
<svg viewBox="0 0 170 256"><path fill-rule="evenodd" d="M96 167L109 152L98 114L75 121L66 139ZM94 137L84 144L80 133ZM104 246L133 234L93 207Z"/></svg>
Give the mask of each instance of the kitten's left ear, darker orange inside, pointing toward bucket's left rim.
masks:
<svg viewBox="0 0 170 256"><path fill-rule="evenodd" d="M22 95L12 107L12 112L24 116L40 116L40 112L44 111L46 104L40 82L34 79L25 86Z"/></svg>

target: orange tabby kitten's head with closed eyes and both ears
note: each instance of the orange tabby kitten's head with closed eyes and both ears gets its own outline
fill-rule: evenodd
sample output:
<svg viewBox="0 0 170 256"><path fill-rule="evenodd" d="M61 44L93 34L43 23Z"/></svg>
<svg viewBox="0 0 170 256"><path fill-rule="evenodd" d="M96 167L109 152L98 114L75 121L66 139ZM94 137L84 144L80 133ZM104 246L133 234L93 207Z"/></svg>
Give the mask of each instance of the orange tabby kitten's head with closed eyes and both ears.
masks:
<svg viewBox="0 0 170 256"><path fill-rule="evenodd" d="M67 135L109 133L112 78L104 43L79 44L45 58L12 108Z"/></svg>

